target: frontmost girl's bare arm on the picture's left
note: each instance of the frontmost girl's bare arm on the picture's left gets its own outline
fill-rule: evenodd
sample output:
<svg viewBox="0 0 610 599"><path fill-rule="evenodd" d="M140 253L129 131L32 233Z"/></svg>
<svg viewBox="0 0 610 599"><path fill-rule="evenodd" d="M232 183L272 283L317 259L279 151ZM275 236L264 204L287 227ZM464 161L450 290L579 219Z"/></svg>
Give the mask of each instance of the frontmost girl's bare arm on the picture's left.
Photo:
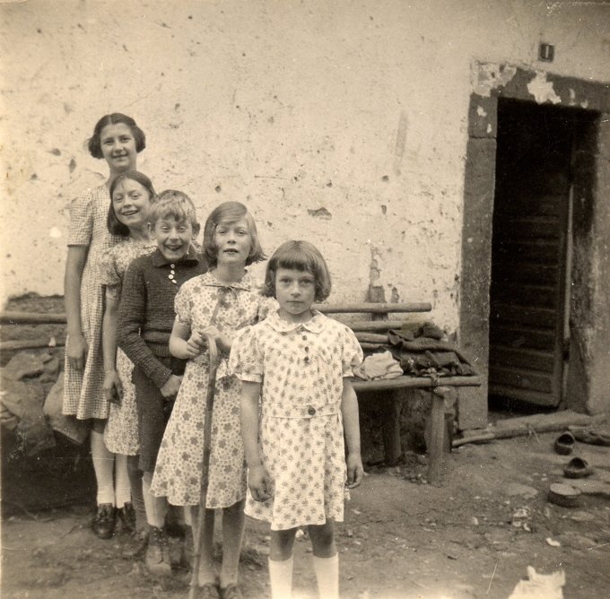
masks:
<svg viewBox="0 0 610 599"><path fill-rule="evenodd" d="M248 487L253 499L266 501L271 497L269 475L258 452L258 398L260 383L241 384L241 434L248 464Z"/></svg>

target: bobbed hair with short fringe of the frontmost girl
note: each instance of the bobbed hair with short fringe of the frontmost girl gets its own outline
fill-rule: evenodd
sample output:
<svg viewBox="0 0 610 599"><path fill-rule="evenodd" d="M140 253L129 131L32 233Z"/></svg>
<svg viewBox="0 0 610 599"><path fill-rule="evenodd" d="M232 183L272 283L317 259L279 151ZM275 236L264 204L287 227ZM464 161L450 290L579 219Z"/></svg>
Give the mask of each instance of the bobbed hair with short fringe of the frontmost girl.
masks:
<svg viewBox="0 0 610 599"><path fill-rule="evenodd" d="M275 274L280 268L289 268L314 275L316 279L316 301L324 301L330 295L330 273L318 247L309 241L291 240L274 251L267 263L263 295L275 297Z"/></svg>

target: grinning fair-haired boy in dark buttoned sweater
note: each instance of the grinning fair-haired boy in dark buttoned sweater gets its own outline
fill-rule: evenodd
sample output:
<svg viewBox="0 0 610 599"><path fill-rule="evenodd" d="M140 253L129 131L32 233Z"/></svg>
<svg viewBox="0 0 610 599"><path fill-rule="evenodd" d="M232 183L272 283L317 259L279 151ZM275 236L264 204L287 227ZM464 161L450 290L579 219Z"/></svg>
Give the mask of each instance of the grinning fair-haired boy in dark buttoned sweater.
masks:
<svg viewBox="0 0 610 599"><path fill-rule="evenodd" d="M183 282L207 271L207 264L193 245L200 227L195 205L186 194L171 189L162 192L149 219L157 248L153 254L136 258L127 269L118 308L117 343L134 362L132 380L140 438L139 464L135 467L143 472L144 506L150 527L145 564L153 574L169 575L165 531L168 504L165 498L154 497L150 487L186 364L170 355L174 298Z"/></svg>

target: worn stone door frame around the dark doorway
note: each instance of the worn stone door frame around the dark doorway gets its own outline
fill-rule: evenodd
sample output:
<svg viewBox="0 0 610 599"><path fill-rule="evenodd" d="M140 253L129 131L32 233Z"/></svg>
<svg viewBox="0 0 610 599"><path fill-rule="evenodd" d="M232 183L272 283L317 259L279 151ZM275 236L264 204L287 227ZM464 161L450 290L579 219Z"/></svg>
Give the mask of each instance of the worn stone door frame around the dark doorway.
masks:
<svg viewBox="0 0 610 599"><path fill-rule="evenodd" d="M590 124L577 148L571 246L571 346L564 407L610 411L610 86L513 65L477 62L468 109L468 140L458 343L484 378L459 392L458 427L487 425L492 212L498 98L551 102L586 110ZM605 234L601 234L604 231Z"/></svg>

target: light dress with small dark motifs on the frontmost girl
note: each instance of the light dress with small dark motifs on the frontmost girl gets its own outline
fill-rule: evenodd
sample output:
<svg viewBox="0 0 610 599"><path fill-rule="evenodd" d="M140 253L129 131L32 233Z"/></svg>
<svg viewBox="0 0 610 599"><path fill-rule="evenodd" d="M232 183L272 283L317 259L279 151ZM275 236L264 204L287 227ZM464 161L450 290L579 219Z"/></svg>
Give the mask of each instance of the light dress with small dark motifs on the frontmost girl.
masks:
<svg viewBox="0 0 610 599"><path fill-rule="evenodd" d="M259 502L248 490L248 516L272 530L343 520L343 378L361 362L353 332L318 311L301 324L274 312L240 331L229 369L262 382L259 451L274 492Z"/></svg>

